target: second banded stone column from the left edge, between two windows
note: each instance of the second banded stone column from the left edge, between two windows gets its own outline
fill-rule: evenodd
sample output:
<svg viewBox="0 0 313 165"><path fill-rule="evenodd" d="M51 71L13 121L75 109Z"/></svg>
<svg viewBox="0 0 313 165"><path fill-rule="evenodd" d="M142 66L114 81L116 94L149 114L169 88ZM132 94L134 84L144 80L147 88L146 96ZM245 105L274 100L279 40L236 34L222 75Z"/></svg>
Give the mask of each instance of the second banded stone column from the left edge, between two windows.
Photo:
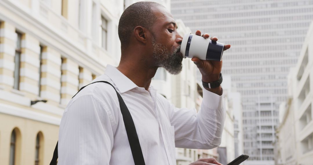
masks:
<svg viewBox="0 0 313 165"><path fill-rule="evenodd" d="M21 68L19 90L31 98L39 94L39 41L24 33L21 42Z"/></svg>

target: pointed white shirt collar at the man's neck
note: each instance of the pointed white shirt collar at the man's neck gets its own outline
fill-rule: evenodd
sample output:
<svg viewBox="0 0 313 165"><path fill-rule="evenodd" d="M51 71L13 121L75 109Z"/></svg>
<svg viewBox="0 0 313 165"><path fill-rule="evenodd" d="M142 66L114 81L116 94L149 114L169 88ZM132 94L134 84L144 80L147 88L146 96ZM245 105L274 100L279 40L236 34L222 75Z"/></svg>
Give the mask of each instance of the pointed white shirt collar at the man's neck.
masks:
<svg viewBox="0 0 313 165"><path fill-rule="evenodd" d="M134 82L132 82L129 78L127 78L123 73L121 73L117 68L113 67L112 65L106 66L105 74L109 76L109 78L111 78L120 93L124 93L138 87Z"/></svg>

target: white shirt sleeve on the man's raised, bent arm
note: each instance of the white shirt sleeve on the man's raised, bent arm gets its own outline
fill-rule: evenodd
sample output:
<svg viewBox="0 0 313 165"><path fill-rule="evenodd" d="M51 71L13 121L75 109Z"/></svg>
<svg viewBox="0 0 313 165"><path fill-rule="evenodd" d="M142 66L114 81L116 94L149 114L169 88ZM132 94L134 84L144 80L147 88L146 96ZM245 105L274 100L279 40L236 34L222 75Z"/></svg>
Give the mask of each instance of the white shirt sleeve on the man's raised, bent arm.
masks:
<svg viewBox="0 0 313 165"><path fill-rule="evenodd" d="M175 108L170 104L170 122L175 128L178 148L211 149L218 147L225 121L224 94L203 90L201 109Z"/></svg>

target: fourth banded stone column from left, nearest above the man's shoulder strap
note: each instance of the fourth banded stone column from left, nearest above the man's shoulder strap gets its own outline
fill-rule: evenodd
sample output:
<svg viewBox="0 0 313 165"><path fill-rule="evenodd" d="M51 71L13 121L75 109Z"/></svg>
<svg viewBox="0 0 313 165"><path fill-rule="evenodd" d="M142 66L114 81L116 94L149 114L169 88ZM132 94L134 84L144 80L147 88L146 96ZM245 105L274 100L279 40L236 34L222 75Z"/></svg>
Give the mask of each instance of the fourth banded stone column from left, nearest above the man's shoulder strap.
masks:
<svg viewBox="0 0 313 165"><path fill-rule="evenodd" d="M61 105L67 105L78 91L78 64L71 59L63 58L61 72Z"/></svg>

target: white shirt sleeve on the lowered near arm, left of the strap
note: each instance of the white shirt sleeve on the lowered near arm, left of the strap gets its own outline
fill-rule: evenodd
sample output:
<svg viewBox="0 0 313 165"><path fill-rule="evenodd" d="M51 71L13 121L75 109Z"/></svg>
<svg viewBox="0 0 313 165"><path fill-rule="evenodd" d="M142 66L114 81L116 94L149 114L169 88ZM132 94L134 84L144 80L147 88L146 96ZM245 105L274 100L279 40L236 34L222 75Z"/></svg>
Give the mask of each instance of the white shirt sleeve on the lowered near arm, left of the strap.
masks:
<svg viewBox="0 0 313 165"><path fill-rule="evenodd" d="M58 164L108 165L113 130L106 105L92 95L77 98L65 109L59 129Z"/></svg>

